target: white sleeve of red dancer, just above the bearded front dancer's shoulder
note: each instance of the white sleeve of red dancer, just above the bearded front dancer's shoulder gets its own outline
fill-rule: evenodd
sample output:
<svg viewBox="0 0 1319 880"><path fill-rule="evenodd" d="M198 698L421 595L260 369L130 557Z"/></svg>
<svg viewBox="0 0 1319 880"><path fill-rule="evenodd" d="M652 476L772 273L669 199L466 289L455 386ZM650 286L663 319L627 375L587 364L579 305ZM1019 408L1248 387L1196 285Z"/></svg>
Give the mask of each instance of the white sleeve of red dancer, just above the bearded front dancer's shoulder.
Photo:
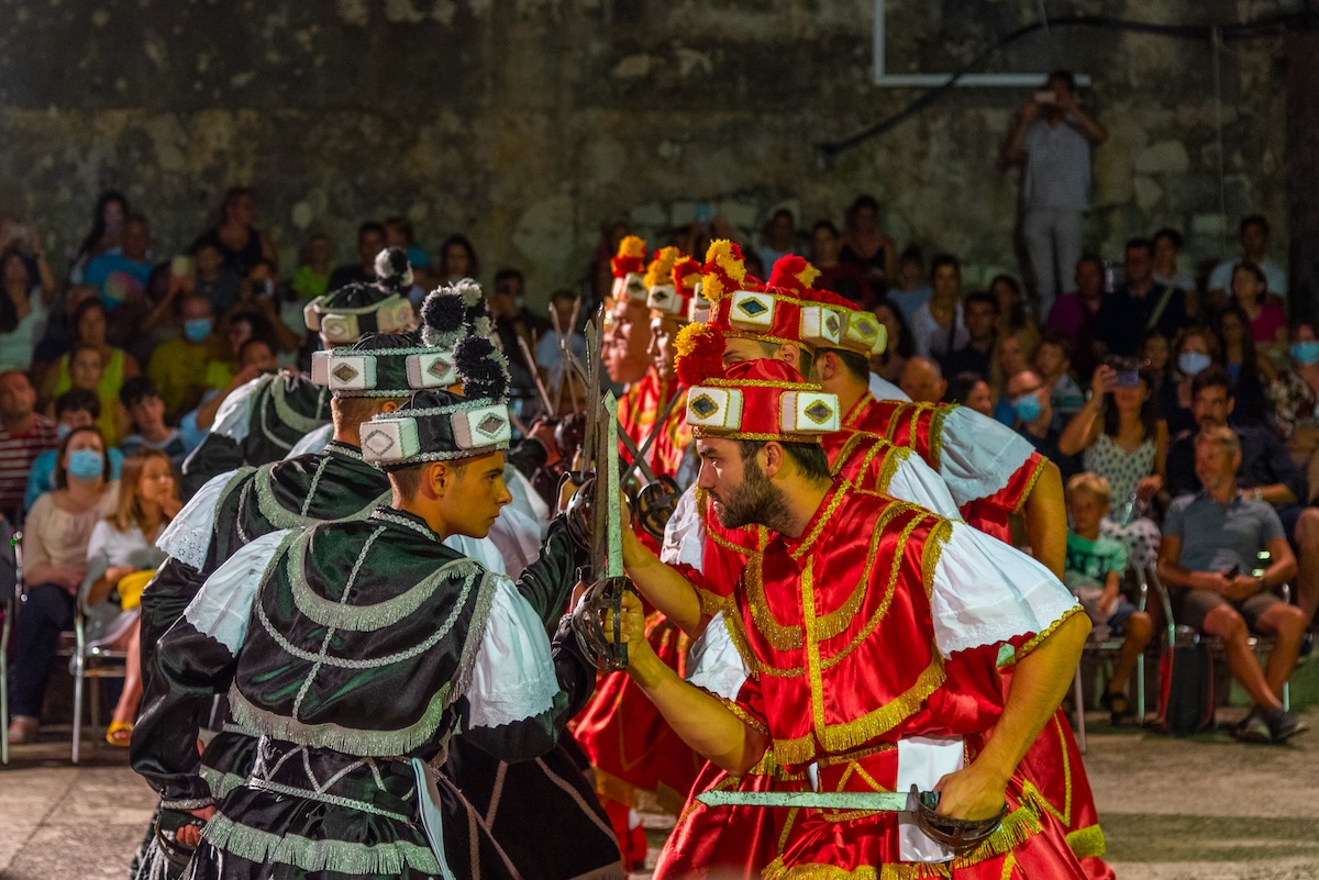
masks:
<svg viewBox="0 0 1319 880"><path fill-rule="evenodd" d="M939 476L958 507L1002 490L1035 452L1008 426L964 406L944 418L939 441Z"/></svg>

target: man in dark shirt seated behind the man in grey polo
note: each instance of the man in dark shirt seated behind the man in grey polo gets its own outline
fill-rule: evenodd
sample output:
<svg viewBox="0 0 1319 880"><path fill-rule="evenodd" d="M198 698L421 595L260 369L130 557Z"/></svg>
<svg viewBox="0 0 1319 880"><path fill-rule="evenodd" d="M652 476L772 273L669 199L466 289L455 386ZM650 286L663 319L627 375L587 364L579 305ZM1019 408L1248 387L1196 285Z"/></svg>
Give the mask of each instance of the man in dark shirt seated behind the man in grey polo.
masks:
<svg viewBox="0 0 1319 880"><path fill-rule="evenodd" d="M1200 431L1228 426L1236 400L1232 398L1232 379L1227 370L1211 368L1196 375L1194 394ZM1308 622L1319 607L1319 509L1304 506L1304 499L1310 497L1306 476L1291 460L1277 433L1260 424L1242 424L1236 428L1236 437L1241 461L1233 469L1233 480L1248 498L1273 506L1282 520L1283 534L1301 561L1297 603ZM1202 489L1202 478L1195 468L1194 437L1174 443L1167 453L1169 490L1174 497Z"/></svg>

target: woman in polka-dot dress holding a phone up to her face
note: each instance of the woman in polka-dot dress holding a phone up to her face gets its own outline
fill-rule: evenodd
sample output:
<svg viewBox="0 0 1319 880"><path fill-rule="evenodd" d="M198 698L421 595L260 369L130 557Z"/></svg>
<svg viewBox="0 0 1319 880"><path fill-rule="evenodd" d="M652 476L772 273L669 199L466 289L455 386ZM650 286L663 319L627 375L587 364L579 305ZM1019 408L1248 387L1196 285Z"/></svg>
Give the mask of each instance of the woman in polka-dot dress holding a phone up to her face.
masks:
<svg viewBox="0 0 1319 880"><path fill-rule="evenodd" d="M1144 515L1163 487L1167 468L1167 423L1150 398L1153 378L1145 369L1116 361L1103 364L1091 379L1091 398L1058 439L1063 454L1082 454L1082 466L1108 480L1120 505L1104 519L1103 532L1126 544L1130 559L1153 568L1158 527Z"/></svg>

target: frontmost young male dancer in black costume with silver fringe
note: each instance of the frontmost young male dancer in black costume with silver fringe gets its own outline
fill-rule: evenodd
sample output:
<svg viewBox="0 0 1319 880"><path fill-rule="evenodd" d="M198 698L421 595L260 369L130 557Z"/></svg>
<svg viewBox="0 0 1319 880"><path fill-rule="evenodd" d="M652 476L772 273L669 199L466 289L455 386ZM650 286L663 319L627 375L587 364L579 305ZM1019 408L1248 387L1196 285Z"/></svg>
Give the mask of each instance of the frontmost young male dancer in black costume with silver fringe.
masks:
<svg viewBox="0 0 1319 880"><path fill-rule="evenodd" d="M459 362L471 344L468 364L496 364L476 343ZM454 734L506 760L543 754L595 672L567 627L551 649L538 614L567 603L583 561L562 519L516 585L443 544L483 537L509 501L496 365L466 371L466 398L419 391L363 426L389 505L252 541L162 639L177 710L232 682L235 717L261 732L245 784L198 810L208 825L186 876L518 876L434 768ZM149 779L169 792L189 771Z"/></svg>

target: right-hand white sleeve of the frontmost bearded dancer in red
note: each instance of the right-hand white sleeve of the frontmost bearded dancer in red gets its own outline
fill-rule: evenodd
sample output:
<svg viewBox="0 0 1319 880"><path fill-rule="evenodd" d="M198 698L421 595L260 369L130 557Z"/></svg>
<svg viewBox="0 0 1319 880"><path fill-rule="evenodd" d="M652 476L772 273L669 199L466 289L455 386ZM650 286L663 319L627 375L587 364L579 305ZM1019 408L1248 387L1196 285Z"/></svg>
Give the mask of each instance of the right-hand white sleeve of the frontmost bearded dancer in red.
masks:
<svg viewBox="0 0 1319 880"><path fill-rule="evenodd" d="M1047 568L966 523L952 523L930 593L940 652L1043 632L1075 607L1075 597Z"/></svg>

